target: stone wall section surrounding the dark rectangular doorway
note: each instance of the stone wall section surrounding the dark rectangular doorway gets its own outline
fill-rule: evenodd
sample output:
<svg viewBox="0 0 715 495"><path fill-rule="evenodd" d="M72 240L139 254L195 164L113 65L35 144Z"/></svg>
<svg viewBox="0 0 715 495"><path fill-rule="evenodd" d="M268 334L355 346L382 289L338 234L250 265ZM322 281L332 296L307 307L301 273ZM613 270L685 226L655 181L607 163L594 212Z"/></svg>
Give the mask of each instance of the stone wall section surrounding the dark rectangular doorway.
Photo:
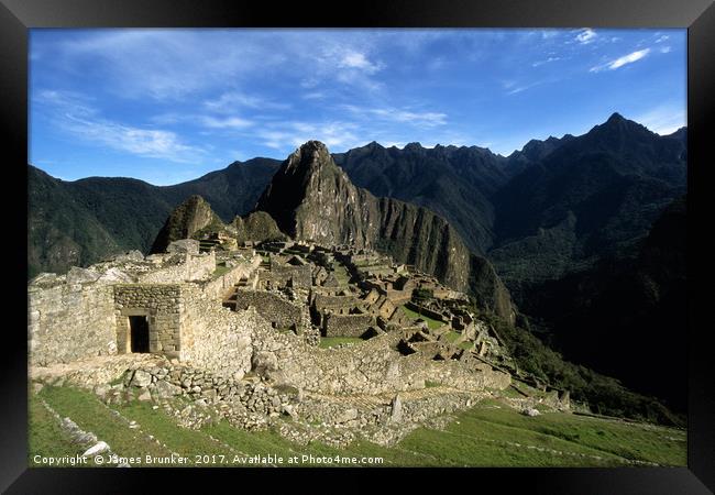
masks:
<svg viewBox="0 0 715 495"><path fill-rule="evenodd" d="M117 348L131 352L130 316L148 321L148 350L168 356L182 351L182 286L179 284L118 284L113 286Z"/></svg>

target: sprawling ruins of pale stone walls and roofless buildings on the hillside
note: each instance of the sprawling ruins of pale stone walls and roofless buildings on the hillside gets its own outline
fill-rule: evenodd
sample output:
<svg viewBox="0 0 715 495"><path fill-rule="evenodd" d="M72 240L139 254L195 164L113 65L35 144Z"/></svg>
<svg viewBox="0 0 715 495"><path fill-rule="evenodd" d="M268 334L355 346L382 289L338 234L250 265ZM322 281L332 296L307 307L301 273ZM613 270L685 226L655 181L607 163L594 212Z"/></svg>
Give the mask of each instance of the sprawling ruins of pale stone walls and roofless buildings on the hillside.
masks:
<svg viewBox="0 0 715 495"><path fill-rule="evenodd" d="M245 428L288 415L296 422L282 433L294 439L315 438L319 419L343 428L343 443L355 435L344 428L367 426L389 443L512 383L498 336L466 296L388 257L293 242L201 248L182 240L31 280L31 376L68 366L107 400L136 391L172 409L188 397ZM418 306L417 288L439 297ZM318 346L332 337L364 342Z"/></svg>

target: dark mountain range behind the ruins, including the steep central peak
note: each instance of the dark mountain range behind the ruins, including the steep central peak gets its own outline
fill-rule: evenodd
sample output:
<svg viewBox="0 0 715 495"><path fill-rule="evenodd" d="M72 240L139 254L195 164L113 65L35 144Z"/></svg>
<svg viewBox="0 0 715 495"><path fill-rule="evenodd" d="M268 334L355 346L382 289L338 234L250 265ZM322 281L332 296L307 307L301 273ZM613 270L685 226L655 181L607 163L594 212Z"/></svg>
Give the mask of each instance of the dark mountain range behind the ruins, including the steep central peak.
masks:
<svg viewBox="0 0 715 495"><path fill-rule="evenodd" d="M311 148L308 157L296 152L284 162L235 162L164 187L129 178L64 182L29 166L29 276L131 249L148 252L172 211L199 195L226 223L265 211L285 233L375 246L477 294L496 294L503 282L520 324L566 358L644 384L626 361L642 348L652 320L628 312L647 312L649 292L680 294L678 284L684 286L684 266L664 277L652 254L678 258L684 240L653 251L668 235L652 226L666 216L671 227L663 229L684 235L672 219L686 193L686 139L684 128L661 136L614 113L583 135L532 140L509 156L477 146L400 150L373 142L331 156ZM300 170L310 173L290 176ZM308 187L323 196L307 195ZM459 254L450 255L453 249ZM492 266L498 276L485 277ZM475 287L475 273L488 287ZM636 278L650 282L629 285L628 297L618 293L624 279ZM618 297L623 304L606 304ZM680 307L676 296L667 301L669 315ZM579 339L602 342L596 321L638 337L612 360L585 355ZM653 346L648 352L657 354ZM664 388L653 393L663 396Z"/></svg>

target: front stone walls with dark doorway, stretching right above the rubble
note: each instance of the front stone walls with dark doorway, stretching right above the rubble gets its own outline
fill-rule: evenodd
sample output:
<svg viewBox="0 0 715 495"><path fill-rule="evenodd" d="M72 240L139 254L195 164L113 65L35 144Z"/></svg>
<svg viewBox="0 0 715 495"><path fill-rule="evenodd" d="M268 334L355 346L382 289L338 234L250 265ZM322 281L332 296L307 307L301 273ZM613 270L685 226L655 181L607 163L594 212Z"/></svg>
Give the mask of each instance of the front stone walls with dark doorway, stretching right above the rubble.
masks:
<svg viewBox="0 0 715 495"><path fill-rule="evenodd" d="M277 331L271 315L261 314L265 305L260 299L245 308L224 307L237 287L260 297L260 273L265 270L261 255L223 253L229 270L217 272L216 252L199 253L198 241L175 244L165 254L144 257L132 252L31 280L31 366L151 353L235 380L253 372L273 383L329 394L420 389L430 381L480 391L510 382L507 373L487 364L463 366L403 355L396 350L399 332L382 333L358 346L319 349L307 339L307 299L284 298L302 311L295 314L297 324L290 332ZM278 293L264 294L275 298ZM332 312L326 319L351 317ZM374 320L372 315L354 317Z"/></svg>

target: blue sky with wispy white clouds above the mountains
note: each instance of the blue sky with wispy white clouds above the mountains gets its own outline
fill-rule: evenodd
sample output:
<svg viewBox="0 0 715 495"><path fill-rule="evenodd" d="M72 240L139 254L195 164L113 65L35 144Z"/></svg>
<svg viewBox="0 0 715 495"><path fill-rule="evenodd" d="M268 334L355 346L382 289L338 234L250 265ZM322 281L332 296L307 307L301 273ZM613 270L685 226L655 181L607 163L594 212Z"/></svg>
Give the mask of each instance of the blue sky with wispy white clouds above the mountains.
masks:
<svg viewBox="0 0 715 495"><path fill-rule="evenodd" d="M45 30L29 161L55 177L189 180L302 142L479 145L686 122L685 30Z"/></svg>

